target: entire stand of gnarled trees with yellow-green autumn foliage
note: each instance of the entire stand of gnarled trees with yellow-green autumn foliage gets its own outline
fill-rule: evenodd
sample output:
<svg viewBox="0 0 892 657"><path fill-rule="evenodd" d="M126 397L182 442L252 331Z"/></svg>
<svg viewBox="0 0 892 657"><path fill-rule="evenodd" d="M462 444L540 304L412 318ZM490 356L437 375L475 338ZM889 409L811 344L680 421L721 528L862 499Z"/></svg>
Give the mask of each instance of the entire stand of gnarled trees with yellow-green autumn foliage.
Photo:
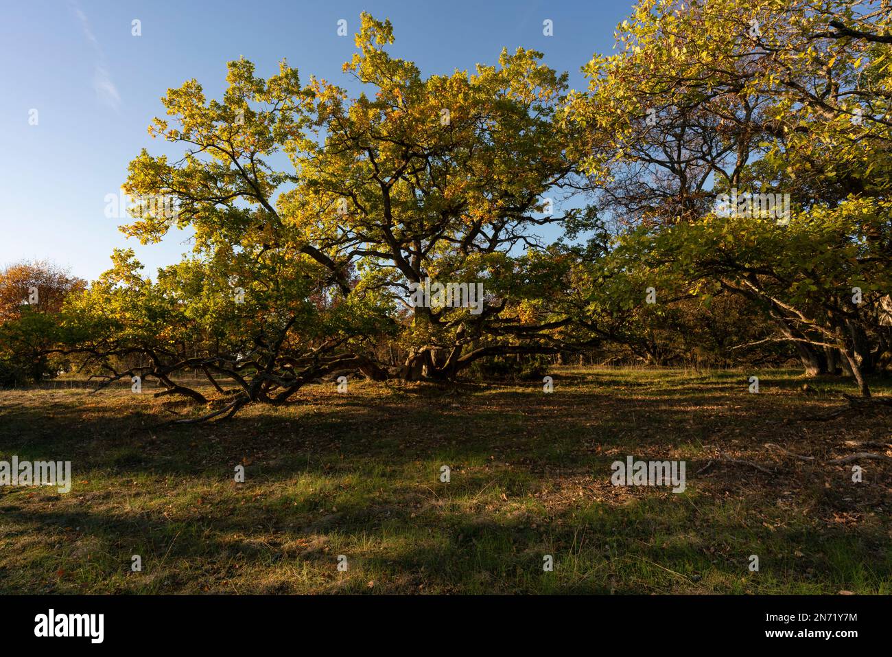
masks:
<svg viewBox="0 0 892 657"><path fill-rule="evenodd" d="M344 64L359 97L229 62L220 99L196 80L162 98L150 131L182 156L128 168L128 194L177 212L122 230L190 228L192 254L152 279L119 250L89 286L4 270L4 383L78 370L207 402L197 372L207 419L328 375L796 359L868 396L892 365L890 15L641 0L577 91L523 48L425 77L368 14ZM789 195L789 215L716 212L725 193ZM483 282L483 312L412 306L425 279Z"/></svg>

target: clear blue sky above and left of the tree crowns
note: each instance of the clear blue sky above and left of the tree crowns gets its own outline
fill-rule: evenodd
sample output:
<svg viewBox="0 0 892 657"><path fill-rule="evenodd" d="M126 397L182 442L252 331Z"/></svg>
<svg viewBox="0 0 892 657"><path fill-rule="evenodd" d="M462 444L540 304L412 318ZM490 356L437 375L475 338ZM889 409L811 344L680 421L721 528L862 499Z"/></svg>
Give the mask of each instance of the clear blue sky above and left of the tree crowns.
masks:
<svg viewBox="0 0 892 657"><path fill-rule="evenodd" d="M198 79L208 97L224 88L226 62L244 55L258 74L283 57L350 88L341 65L353 53L359 13L392 21L392 53L425 74L493 63L503 46L541 50L545 62L584 87L580 66L613 47L614 29L632 0L573 2L185 2L29 0L0 18L0 266L50 260L95 279L115 246L130 246L146 273L177 262L191 246L184 233L161 245L124 237L124 220L105 217L128 162L144 146L167 146L146 128L163 113L169 87ZM141 21L142 35L131 34ZM338 37L337 21L349 37ZM554 36L542 34L553 21ZM37 125L30 125L37 110ZM170 151L168 151L170 152ZM175 152L170 152L175 153Z"/></svg>

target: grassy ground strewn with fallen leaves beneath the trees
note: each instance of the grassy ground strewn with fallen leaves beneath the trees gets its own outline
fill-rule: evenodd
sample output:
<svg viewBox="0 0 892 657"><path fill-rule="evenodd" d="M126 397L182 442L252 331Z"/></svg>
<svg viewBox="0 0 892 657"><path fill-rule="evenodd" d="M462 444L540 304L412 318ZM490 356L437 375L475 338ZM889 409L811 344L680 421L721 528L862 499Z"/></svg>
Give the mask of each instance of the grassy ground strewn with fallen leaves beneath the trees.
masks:
<svg viewBox="0 0 892 657"><path fill-rule="evenodd" d="M160 425L203 409L0 392L0 460L70 461L73 478L68 494L0 488L0 593L892 593L892 465L860 462L855 483L825 463L882 453L858 445L892 442L892 415L804 420L846 380L805 394L796 372L765 370L753 395L744 371L551 374L552 394L313 386L179 428ZM686 490L612 486L629 454L685 461Z"/></svg>

